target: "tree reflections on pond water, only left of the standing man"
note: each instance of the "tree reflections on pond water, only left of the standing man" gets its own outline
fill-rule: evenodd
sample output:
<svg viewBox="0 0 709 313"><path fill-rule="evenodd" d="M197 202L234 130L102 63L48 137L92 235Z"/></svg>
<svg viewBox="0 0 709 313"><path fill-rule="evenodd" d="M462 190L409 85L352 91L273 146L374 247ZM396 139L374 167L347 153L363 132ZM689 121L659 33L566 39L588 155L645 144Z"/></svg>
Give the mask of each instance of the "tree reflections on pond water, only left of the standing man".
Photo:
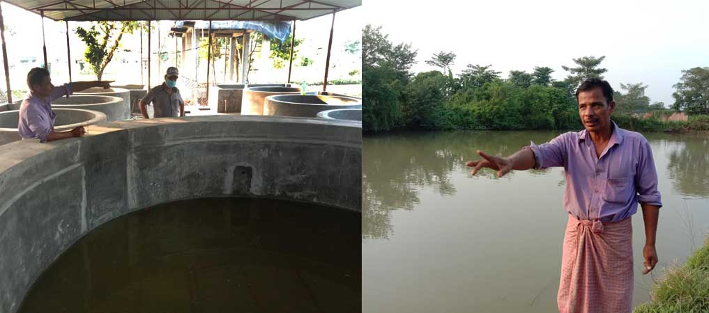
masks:
<svg viewBox="0 0 709 313"><path fill-rule="evenodd" d="M479 159L476 149L509 155L528 145L547 142L554 132L413 132L365 137L362 143L362 237L388 238L391 210L413 210L418 190L432 188L441 196L456 195L454 171L469 171L465 161ZM544 175L546 171L530 171ZM503 179L514 176L509 173ZM495 178L483 170L479 178ZM564 183L563 180L559 184Z"/></svg>

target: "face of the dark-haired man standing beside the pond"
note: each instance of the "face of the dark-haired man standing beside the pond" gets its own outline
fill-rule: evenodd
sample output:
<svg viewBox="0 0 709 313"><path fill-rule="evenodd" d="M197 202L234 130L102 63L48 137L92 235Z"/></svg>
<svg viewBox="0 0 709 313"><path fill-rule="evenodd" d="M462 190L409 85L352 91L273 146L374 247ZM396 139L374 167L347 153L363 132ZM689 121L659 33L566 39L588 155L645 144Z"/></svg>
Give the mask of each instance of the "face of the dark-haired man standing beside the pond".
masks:
<svg viewBox="0 0 709 313"><path fill-rule="evenodd" d="M608 103L603 89L596 87L579 93L579 116L589 132L600 132L610 127L610 115L615 110L615 101Z"/></svg>

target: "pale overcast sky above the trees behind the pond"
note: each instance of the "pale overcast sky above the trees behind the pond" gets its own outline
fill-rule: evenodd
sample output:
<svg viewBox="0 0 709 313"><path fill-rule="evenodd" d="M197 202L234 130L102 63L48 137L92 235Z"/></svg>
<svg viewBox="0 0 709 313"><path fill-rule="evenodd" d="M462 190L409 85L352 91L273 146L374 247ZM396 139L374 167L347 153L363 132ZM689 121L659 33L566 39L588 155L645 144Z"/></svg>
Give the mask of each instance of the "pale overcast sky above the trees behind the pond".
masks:
<svg viewBox="0 0 709 313"><path fill-rule="evenodd" d="M643 82L651 101L674 102L672 85L683 69L709 67L709 1L404 1L364 0L364 23L381 25L395 43L418 49L415 72L434 68L440 51L457 55L453 72L467 64L511 69L554 69L573 58L605 55L601 67L614 89Z"/></svg>

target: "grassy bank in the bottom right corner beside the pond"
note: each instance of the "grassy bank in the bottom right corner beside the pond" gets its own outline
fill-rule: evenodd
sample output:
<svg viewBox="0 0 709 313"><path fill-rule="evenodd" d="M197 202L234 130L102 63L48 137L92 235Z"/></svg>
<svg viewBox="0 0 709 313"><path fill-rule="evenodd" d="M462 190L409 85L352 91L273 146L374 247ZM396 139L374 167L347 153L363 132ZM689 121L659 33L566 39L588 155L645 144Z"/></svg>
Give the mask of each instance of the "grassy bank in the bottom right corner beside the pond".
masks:
<svg viewBox="0 0 709 313"><path fill-rule="evenodd" d="M684 263L652 288L652 300L634 313L709 312L709 237Z"/></svg>

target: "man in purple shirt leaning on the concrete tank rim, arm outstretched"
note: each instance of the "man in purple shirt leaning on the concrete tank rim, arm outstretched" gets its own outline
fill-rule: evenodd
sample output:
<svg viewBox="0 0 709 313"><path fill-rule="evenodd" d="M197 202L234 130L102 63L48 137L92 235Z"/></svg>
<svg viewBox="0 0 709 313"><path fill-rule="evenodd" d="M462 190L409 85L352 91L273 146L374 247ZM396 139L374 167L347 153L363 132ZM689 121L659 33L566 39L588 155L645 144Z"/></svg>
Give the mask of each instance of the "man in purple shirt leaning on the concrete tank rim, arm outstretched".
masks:
<svg viewBox="0 0 709 313"><path fill-rule="evenodd" d="M30 93L20 106L20 119L17 130L25 138L39 138L40 142L50 142L70 137L81 137L86 133L83 126L66 132L55 132L54 121L57 115L52 111L52 101L61 96L69 96L74 91L92 87L110 87L111 81L75 81L60 87L52 85L52 79L46 69L35 67L27 73L27 86Z"/></svg>

